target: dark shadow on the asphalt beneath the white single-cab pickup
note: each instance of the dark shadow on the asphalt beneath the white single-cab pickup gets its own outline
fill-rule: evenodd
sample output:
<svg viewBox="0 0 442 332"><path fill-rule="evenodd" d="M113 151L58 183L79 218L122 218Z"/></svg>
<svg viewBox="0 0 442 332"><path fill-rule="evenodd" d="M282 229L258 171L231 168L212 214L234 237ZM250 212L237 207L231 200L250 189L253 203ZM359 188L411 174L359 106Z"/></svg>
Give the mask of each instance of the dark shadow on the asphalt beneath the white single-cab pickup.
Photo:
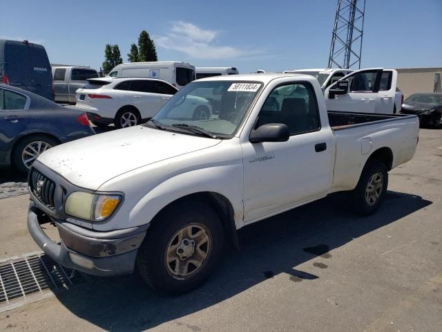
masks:
<svg viewBox="0 0 442 332"><path fill-rule="evenodd" d="M287 277L287 283L312 282L318 276L296 266L307 261L314 264L318 256L322 262L332 262L330 250L430 204L420 196L387 192L381 210L374 216L360 217L348 211L346 196L335 194L242 228L241 250L229 247L208 282L186 295L159 295L137 275L105 278L82 274L79 284L56 295L72 313L108 331L144 331L171 321L177 329L185 326L200 331L202 327L184 324L180 317L209 308L275 275ZM319 264L327 268L316 262Z"/></svg>

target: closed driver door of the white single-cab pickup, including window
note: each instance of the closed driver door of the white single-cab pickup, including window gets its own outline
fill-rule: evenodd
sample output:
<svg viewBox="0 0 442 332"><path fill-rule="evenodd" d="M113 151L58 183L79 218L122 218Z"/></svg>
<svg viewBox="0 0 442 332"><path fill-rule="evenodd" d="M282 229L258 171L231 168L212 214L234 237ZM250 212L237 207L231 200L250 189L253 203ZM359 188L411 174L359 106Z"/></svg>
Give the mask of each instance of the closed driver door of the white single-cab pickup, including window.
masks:
<svg viewBox="0 0 442 332"><path fill-rule="evenodd" d="M276 87L258 115L266 123L289 127L286 142L247 142L244 165L244 223L271 216L323 196L329 189L334 135L321 128L313 87L288 83Z"/></svg>

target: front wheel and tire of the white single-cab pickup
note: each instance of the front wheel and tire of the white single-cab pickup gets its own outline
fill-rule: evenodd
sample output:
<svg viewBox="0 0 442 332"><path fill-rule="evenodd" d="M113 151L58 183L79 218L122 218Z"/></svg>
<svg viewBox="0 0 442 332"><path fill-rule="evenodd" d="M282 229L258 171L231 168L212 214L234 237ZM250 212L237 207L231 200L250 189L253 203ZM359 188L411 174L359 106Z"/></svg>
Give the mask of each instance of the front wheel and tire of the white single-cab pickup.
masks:
<svg viewBox="0 0 442 332"><path fill-rule="evenodd" d="M177 203L155 217L138 250L137 270L160 293L187 293L213 273L223 245L220 218L209 206Z"/></svg>

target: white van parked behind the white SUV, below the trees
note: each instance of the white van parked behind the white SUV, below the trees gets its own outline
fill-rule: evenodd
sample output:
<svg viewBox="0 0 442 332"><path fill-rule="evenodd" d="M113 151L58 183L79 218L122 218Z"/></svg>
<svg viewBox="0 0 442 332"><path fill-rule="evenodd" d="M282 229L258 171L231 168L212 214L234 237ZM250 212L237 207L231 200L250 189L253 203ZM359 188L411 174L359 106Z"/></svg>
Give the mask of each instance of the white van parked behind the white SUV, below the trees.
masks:
<svg viewBox="0 0 442 332"><path fill-rule="evenodd" d="M195 66L178 61L128 62L115 66L109 76L157 78L181 89L195 80Z"/></svg>

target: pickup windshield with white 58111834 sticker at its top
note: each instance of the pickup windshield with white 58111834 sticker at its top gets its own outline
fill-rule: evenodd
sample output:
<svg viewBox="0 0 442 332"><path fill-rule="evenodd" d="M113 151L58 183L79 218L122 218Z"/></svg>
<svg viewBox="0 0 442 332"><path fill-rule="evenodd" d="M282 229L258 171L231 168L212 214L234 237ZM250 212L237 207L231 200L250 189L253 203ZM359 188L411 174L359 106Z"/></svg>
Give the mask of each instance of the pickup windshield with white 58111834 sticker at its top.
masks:
<svg viewBox="0 0 442 332"><path fill-rule="evenodd" d="M175 93L146 125L231 138L262 87L259 82L195 81Z"/></svg>

